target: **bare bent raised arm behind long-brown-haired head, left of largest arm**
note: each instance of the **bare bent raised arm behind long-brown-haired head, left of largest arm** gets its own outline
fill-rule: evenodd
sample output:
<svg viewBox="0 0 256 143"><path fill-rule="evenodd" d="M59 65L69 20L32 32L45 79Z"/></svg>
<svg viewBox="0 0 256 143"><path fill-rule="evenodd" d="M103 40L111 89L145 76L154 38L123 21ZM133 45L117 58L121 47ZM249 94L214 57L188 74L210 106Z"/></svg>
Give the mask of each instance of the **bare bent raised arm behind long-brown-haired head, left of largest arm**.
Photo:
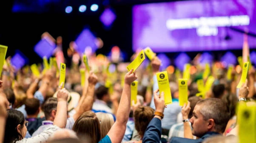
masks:
<svg viewBox="0 0 256 143"><path fill-rule="evenodd" d="M95 85L98 82L98 77L91 71L90 76L88 77L88 91L86 93L85 99L82 104L76 108L76 114L73 116L74 121L77 121L77 118L84 112L92 109L93 97L95 91Z"/></svg>

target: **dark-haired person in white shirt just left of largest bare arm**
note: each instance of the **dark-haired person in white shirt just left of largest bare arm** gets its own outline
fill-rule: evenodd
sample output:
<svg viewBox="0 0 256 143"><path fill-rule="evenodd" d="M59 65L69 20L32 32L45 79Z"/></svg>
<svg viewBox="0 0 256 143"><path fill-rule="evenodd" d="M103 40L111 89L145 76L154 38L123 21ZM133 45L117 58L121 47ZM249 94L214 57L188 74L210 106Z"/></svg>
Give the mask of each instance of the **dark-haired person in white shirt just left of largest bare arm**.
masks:
<svg viewBox="0 0 256 143"><path fill-rule="evenodd" d="M101 85L95 90L95 95L97 99L95 99L92 109L96 111L105 111L106 113L113 113L112 109L107 105L107 102L110 100L108 88Z"/></svg>

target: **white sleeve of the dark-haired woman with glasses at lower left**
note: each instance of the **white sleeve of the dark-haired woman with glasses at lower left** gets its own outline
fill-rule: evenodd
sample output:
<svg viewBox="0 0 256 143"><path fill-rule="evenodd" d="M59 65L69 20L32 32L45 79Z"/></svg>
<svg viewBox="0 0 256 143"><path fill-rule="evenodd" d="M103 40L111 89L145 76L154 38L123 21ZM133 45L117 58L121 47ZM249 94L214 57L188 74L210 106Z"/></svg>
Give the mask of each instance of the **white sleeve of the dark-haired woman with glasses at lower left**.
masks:
<svg viewBox="0 0 256 143"><path fill-rule="evenodd" d="M44 132L31 138L23 138L16 143L45 143L48 138L56 131L60 130L58 126L50 126Z"/></svg>

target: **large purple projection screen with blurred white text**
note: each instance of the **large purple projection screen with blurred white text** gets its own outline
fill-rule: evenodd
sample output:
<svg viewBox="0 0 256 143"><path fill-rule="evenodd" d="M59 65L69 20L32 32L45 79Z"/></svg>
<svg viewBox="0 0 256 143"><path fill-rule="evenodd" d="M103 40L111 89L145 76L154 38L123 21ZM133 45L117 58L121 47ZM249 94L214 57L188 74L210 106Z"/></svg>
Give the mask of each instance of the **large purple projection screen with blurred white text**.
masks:
<svg viewBox="0 0 256 143"><path fill-rule="evenodd" d="M244 37L237 30L256 34L256 0L149 3L135 5L132 12L134 51L237 50ZM248 42L256 48L256 37Z"/></svg>

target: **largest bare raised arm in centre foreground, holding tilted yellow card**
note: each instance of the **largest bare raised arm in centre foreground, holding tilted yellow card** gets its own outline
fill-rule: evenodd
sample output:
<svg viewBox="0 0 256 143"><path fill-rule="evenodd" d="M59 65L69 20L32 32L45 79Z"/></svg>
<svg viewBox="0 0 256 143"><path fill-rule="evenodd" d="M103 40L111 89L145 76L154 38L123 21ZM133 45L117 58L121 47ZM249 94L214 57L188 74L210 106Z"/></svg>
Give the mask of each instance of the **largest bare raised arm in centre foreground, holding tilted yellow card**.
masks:
<svg viewBox="0 0 256 143"><path fill-rule="evenodd" d="M125 84L122 91L120 105L117 110L117 120L108 132L111 143L121 143L125 135L126 124L131 110L131 83L137 79L133 69L125 74Z"/></svg>

